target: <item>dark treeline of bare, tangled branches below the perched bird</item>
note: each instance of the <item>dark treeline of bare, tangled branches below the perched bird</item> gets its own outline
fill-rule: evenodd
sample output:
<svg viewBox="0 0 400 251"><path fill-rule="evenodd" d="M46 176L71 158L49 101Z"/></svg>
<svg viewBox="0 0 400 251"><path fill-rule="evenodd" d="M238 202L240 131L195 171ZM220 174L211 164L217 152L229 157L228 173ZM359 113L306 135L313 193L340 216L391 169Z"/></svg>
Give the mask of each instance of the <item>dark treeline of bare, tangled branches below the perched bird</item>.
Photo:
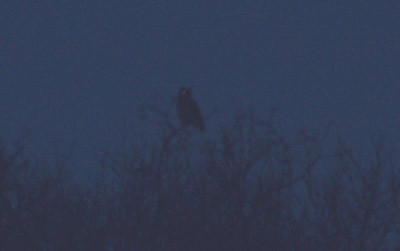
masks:
<svg viewBox="0 0 400 251"><path fill-rule="evenodd" d="M1 250L400 250L395 149L289 139L238 114L214 139L168 122L104 151L87 189L0 148ZM45 165L45 166L43 166Z"/></svg>

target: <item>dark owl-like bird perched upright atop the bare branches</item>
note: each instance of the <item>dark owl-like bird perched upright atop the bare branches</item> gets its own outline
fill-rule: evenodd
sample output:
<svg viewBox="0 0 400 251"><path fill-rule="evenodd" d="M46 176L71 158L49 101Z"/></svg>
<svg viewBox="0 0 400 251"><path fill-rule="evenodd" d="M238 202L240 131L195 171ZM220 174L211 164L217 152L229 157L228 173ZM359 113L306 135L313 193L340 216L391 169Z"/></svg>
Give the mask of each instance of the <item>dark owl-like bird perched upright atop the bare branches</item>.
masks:
<svg viewBox="0 0 400 251"><path fill-rule="evenodd" d="M192 125L204 131L204 121L196 101L192 99L192 89L181 87L176 105L178 117L183 126Z"/></svg>

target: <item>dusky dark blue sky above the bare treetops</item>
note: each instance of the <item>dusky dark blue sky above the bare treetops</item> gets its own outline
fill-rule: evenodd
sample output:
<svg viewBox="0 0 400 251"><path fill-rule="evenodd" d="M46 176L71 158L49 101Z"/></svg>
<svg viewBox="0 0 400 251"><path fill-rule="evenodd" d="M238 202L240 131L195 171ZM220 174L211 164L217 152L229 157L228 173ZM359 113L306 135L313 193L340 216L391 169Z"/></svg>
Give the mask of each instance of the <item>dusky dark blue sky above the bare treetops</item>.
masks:
<svg viewBox="0 0 400 251"><path fill-rule="evenodd" d="M2 1L0 25L0 135L29 128L40 155L75 140L89 161L183 84L218 106L208 136L234 100L283 129L400 139L397 1Z"/></svg>

